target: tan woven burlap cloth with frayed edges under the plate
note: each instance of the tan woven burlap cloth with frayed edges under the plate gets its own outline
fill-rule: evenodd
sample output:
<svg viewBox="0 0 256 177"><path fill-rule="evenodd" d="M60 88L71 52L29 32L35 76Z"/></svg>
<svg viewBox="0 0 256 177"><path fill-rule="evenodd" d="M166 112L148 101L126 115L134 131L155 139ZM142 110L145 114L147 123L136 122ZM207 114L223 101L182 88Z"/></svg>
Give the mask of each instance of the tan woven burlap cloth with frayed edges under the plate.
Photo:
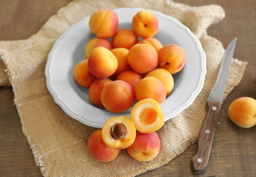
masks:
<svg viewBox="0 0 256 177"><path fill-rule="evenodd" d="M46 87L44 68L55 40L99 8L140 7L175 17L198 37L207 56L204 87L194 103L157 131L161 149L151 161L139 162L121 150L109 163L93 159L87 140L95 128L68 117L55 104ZM206 100L224 55L217 39L207 35L212 23L225 17L220 6L190 7L164 0L77 0L61 8L29 39L0 42L0 84L12 85L22 129L45 177L132 177L168 163L194 144L206 117ZM246 62L233 59L224 98L243 76ZM4 71L5 70L5 71ZM6 76L7 74L7 76Z"/></svg>

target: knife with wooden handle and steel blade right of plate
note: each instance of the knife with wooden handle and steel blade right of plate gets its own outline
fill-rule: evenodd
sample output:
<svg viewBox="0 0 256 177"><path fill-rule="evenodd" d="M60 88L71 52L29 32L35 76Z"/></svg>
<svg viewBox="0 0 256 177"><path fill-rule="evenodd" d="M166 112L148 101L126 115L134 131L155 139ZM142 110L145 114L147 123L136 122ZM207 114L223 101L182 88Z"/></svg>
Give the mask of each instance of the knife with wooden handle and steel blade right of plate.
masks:
<svg viewBox="0 0 256 177"><path fill-rule="evenodd" d="M233 39L233 41L230 42L227 47L227 51L225 52L221 62L217 80L207 99L207 104L209 107L208 114L204 120L204 124L201 127L198 137L197 153L191 159L191 166L194 173L204 171L209 162L209 156L212 149L212 141L218 122L218 116L221 110L222 99L231 65L231 59L233 58L236 47L236 40L237 38Z"/></svg>

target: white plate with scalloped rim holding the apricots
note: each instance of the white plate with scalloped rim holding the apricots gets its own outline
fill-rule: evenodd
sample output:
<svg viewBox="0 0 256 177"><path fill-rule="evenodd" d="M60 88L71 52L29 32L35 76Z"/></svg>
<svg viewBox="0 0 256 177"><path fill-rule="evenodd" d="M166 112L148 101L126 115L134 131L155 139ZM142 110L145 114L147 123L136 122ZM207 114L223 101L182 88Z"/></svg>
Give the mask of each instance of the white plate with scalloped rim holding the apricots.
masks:
<svg viewBox="0 0 256 177"><path fill-rule="evenodd" d="M113 10L119 17L119 29L131 29L132 17L144 9L116 8ZM206 74L206 56L200 41L189 28L173 17L157 11L148 11L156 14L159 20L160 28L154 37L163 45L172 43L181 46L187 56L183 70L173 76L172 93L161 104L164 119L167 121L189 107L201 92ZM130 117L131 108L121 114L99 109L90 103L88 89L79 86L73 79L73 67L84 59L84 46L95 37L90 32L89 18L76 23L56 40L45 68L46 84L55 102L67 115L82 124L102 128L105 121L113 116Z"/></svg>

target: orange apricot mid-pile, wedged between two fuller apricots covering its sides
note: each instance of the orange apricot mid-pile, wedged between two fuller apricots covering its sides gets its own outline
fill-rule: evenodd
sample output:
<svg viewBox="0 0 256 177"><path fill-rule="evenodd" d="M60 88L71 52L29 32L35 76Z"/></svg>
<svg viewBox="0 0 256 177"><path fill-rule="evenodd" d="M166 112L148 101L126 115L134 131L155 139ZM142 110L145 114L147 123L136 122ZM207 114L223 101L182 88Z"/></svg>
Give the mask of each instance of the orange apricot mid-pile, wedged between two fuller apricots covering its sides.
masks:
<svg viewBox="0 0 256 177"><path fill-rule="evenodd" d="M126 70L131 70L131 67L127 60L129 50L126 48L114 48L111 50L111 52L116 56L116 59L118 61L118 67L116 69L116 72L113 73L113 75L110 77L111 79L115 80L120 73Z"/></svg>

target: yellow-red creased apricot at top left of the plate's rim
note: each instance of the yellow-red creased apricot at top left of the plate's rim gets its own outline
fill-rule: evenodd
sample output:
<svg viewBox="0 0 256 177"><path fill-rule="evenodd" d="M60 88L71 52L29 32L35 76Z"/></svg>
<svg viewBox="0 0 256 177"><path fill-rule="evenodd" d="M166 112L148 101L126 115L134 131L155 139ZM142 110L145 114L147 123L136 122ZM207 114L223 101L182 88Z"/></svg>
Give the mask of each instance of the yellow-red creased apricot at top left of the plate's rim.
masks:
<svg viewBox="0 0 256 177"><path fill-rule="evenodd" d="M99 9L90 16L89 27L98 38L113 37L119 27L118 16L111 9Z"/></svg>

